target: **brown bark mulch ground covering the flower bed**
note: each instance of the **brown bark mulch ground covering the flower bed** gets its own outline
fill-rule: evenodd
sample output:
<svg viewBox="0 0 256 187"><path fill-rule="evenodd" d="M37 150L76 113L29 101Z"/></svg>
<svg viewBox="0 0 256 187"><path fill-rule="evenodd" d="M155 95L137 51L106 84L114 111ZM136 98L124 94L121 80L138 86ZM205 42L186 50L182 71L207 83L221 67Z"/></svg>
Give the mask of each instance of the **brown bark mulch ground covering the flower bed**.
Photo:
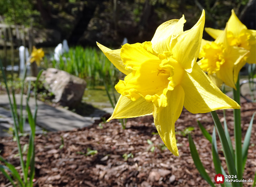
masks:
<svg viewBox="0 0 256 187"><path fill-rule="evenodd" d="M253 112L255 103L242 104L242 137L244 138ZM217 111L220 119L222 111ZM233 141L233 112L227 110L228 128ZM212 181L215 170L211 156L211 143L205 139L197 125L199 119L210 133L213 130L213 120L209 114L191 114L186 109L176 121L176 132L184 131L187 127L195 127L191 132L202 163ZM222 119L223 120L223 119ZM179 157L174 156L168 149L160 151L150 149L147 140L157 147L163 143L156 133L152 116L128 119L127 129L123 130L117 120L98 124L90 128L69 132L49 132L35 137L35 183L34 186L209 186L197 171L190 154L188 137L176 134L179 143ZM153 133L153 134L152 134ZM61 146L61 137L64 147ZM22 137L21 143L28 142L28 137ZM217 137L218 149L221 150ZM243 178L254 179L256 170L255 120L252 130L251 146ZM95 155L86 156L87 148L97 150ZM14 164L21 172L16 142L11 137L0 139L0 153L8 162ZM79 153L80 152L80 153ZM82 153L81 153L82 152ZM133 154L127 161L124 154ZM225 158L219 151L222 165L227 172ZM0 186L8 181L0 174ZM243 183L251 186L252 183Z"/></svg>

